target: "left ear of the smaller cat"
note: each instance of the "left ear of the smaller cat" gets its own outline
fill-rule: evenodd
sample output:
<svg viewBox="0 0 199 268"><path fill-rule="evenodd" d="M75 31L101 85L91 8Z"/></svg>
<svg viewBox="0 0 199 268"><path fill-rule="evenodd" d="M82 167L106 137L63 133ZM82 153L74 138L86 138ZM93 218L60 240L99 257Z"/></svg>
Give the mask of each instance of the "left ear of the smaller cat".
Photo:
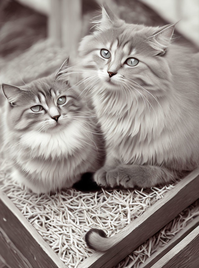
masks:
<svg viewBox="0 0 199 268"><path fill-rule="evenodd" d="M7 101L10 102L12 106L17 105L21 98L21 92L23 91L21 88L12 86L9 84L2 83L3 94L7 98Z"/></svg>

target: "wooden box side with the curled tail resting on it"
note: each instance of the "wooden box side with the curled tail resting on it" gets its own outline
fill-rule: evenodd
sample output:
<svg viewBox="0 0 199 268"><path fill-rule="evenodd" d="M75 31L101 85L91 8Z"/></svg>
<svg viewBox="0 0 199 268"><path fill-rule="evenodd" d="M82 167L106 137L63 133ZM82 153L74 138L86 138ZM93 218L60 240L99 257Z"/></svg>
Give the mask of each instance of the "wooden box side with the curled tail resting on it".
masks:
<svg viewBox="0 0 199 268"><path fill-rule="evenodd" d="M144 243L183 209L199 198L199 168L179 181L164 198L157 200L141 217L132 221L115 235L118 241L106 252L95 252L79 268L110 268Z"/></svg>

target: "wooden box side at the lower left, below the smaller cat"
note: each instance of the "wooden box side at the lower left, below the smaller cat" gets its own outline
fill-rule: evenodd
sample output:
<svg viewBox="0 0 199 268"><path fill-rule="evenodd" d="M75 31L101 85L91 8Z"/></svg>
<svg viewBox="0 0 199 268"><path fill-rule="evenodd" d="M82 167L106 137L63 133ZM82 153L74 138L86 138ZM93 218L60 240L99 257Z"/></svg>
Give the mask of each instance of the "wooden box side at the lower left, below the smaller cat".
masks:
<svg viewBox="0 0 199 268"><path fill-rule="evenodd" d="M1 256L12 268L66 268L37 230L0 191Z"/></svg>

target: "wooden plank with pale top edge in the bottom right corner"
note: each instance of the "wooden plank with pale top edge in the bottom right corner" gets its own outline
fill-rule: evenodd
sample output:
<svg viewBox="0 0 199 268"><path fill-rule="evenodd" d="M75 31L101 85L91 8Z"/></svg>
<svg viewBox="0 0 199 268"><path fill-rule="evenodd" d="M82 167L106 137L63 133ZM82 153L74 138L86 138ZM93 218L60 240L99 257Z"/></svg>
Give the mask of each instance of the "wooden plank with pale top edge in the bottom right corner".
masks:
<svg viewBox="0 0 199 268"><path fill-rule="evenodd" d="M198 268L199 226L172 248L151 268Z"/></svg>

